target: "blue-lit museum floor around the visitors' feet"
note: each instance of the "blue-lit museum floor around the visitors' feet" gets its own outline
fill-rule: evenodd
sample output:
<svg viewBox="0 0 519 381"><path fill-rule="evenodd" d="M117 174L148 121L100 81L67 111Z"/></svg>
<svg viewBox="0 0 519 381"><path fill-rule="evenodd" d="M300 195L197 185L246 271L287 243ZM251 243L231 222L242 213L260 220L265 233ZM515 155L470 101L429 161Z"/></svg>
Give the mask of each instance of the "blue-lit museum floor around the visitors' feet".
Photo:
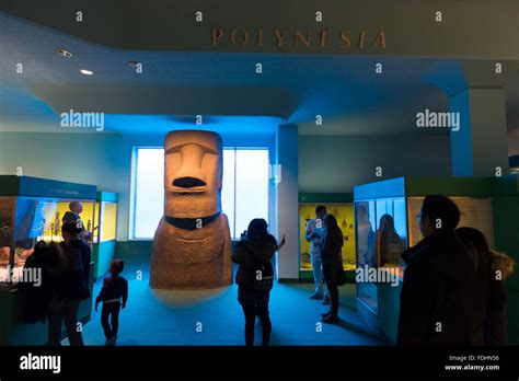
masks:
<svg viewBox="0 0 519 381"><path fill-rule="evenodd" d="M102 279L94 285L94 296L101 285ZM320 313L326 308L308 299L311 289L312 285L275 285L270 296L272 345L383 344L351 308L353 285L341 289L342 322L323 325L322 332L316 332ZM83 327L85 345L104 344L100 316L101 305ZM257 333L260 327L257 322ZM243 328L237 286L212 292L157 291L147 280L130 280L128 305L119 319L118 345L243 345ZM256 334L256 342L260 338Z"/></svg>

